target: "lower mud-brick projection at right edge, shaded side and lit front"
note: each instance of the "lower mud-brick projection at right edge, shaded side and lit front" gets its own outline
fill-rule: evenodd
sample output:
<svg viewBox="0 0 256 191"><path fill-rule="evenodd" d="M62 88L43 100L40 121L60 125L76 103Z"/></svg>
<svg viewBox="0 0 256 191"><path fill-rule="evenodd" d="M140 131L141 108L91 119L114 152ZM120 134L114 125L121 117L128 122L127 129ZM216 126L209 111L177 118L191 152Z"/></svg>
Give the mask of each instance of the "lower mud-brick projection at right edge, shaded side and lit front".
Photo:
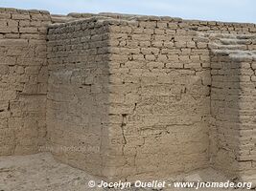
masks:
<svg viewBox="0 0 256 191"><path fill-rule="evenodd" d="M241 55L238 55L241 56ZM214 166L227 175L255 174L255 74L252 58L212 57Z"/></svg>

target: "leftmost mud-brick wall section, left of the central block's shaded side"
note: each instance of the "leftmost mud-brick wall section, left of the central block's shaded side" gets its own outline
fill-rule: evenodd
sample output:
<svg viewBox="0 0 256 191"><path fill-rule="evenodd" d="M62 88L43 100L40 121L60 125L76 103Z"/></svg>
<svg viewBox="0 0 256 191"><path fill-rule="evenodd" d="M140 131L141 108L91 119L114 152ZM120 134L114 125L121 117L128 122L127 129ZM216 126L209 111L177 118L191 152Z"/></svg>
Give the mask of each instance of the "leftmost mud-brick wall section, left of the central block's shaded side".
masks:
<svg viewBox="0 0 256 191"><path fill-rule="evenodd" d="M49 12L0 10L0 155L38 152L45 142Z"/></svg>

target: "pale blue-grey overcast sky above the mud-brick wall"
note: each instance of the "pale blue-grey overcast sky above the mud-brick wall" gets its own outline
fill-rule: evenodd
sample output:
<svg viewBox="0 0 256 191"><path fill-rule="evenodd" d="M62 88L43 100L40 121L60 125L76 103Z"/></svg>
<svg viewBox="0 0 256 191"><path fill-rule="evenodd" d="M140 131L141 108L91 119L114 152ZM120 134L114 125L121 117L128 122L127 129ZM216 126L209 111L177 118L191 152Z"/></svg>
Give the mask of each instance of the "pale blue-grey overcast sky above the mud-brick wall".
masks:
<svg viewBox="0 0 256 191"><path fill-rule="evenodd" d="M0 7L58 14L107 11L256 23L256 0L0 0Z"/></svg>

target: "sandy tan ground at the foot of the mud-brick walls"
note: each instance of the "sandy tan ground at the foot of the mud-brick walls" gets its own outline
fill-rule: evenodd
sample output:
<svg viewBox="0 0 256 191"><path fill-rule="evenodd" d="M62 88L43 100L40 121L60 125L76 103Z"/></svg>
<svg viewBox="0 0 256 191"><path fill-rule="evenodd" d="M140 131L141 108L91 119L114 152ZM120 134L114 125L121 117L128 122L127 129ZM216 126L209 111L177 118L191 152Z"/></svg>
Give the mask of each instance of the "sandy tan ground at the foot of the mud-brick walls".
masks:
<svg viewBox="0 0 256 191"><path fill-rule="evenodd" d="M189 175L187 180L197 179L197 176L205 177L206 180L223 180L220 173L213 170L204 170ZM90 188L89 180L100 180L89 176L84 171L59 163L49 153L40 153L29 156L1 157L0 158L0 191L113 191L114 188ZM167 180L168 181L168 180ZM128 191L163 190L163 191L196 191L195 188L163 188L144 189L126 188ZM200 191L218 191L227 189L204 188ZM228 189L232 190L232 189ZM236 189L239 191L242 189ZM244 189L246 190L246 189Z"/></svg>

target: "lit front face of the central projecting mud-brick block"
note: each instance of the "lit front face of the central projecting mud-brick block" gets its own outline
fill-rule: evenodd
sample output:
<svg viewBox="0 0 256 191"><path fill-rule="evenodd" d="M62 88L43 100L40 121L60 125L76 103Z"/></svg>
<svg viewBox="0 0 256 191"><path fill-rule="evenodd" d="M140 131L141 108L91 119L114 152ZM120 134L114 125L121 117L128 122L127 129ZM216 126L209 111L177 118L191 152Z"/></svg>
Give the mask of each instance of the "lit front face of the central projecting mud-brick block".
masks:
<svg viewBox="0 0 256 191"><path fill-rule="evenodd" d="M110 27L114 176L153 179L209 165L207 42L178 21ZM110 168L111 169L111 168Z"/></svg>

